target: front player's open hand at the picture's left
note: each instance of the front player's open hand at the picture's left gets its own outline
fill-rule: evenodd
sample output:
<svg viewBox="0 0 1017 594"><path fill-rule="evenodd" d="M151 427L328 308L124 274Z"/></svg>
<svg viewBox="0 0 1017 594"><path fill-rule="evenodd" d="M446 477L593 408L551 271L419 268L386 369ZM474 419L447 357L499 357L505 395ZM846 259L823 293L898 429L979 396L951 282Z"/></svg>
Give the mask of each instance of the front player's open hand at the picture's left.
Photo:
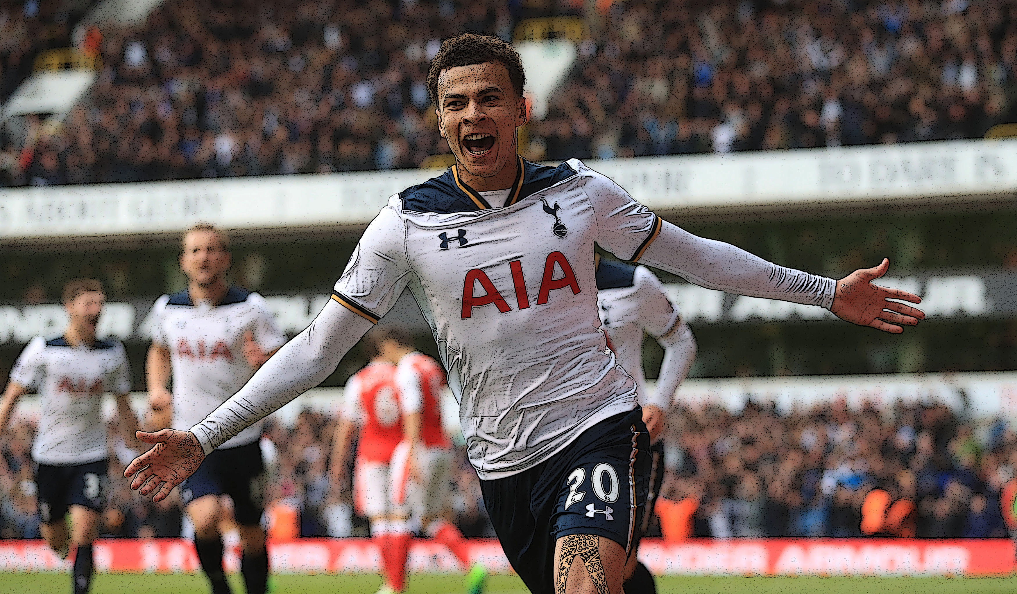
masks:
<svg viewBox="0 0 1017 594"><path fill-rule="evenodd" d="M164 428L156 433L137 432L134 437L155 447L127 465L124 478L133 476L130 487L140 489L142 496L155 492L154 502L165 500L204 460L201 444L190 432Z"/></svg>

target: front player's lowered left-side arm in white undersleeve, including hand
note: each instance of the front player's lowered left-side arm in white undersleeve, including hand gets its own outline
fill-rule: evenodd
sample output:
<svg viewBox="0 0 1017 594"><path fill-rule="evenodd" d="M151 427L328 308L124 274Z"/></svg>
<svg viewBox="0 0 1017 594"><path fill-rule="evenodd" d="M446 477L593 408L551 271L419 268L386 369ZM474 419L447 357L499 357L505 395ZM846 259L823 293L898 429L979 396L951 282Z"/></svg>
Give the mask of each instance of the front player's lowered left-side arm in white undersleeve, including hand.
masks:
<svg viewBox="0 0 1017 594"><path fill-rule="evenodd" d="M190 432L138 432L140 441L155 447L124 471L125 477L133 475L131 488L140 488L144 496L156 491L153 500L157 502L166 499L213 450L320 384L371 326L360 315L330 301L307 329Z"/></svg>

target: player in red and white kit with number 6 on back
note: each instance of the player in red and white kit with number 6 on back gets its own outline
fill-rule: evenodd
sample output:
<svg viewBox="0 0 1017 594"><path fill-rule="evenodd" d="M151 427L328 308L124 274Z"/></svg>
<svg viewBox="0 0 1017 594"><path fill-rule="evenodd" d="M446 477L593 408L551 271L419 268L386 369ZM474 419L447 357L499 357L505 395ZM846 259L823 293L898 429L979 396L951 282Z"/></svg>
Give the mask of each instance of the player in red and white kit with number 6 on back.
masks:
<svg viewBox="0 0 1017 594"><path fill-rule="evenodd" d="M382 333L371 343L375 355L350 378L343 393L342 418L333 439L332 484L347 484L346 458L355 428L360 430L354 465L354 506L371 522L371 538L381 551L385 584L379 594L406 589L406 559L412 530L407 482L414 452L406 436L420 434L419 393L399 391L397 368L383 356L391 339Z"/></svg>

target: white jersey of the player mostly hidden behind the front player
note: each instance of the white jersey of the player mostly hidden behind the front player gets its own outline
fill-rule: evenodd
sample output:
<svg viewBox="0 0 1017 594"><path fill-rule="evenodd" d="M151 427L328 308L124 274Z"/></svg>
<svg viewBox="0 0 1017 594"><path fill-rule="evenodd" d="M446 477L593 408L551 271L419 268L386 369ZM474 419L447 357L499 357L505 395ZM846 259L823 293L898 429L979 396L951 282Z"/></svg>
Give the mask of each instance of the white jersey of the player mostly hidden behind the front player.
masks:
<svg viewBox="0 0 1017 594"><path fill-rule="evenodd" d="M681 321L678 309L645 266L602 259L597 267L597 287L600 321L611 350L618 365L636 379L640 404L650 404L643 373L643 332L655 337L671 332Z"/></svg>

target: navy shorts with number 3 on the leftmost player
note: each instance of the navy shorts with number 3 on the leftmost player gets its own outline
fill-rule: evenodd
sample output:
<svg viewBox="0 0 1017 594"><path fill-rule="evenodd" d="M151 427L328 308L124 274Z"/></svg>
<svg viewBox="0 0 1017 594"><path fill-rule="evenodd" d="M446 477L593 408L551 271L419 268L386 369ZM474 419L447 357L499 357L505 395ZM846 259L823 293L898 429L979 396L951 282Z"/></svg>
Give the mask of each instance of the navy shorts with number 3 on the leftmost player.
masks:
<svg viewBox="0 0 1017 594"><path fill-rule="evenodd" d="M40 464L36 469L36 487L43 523L63 522L70 506L102 512L109 484L108 465L106 460L72 466Z"/></svg>

